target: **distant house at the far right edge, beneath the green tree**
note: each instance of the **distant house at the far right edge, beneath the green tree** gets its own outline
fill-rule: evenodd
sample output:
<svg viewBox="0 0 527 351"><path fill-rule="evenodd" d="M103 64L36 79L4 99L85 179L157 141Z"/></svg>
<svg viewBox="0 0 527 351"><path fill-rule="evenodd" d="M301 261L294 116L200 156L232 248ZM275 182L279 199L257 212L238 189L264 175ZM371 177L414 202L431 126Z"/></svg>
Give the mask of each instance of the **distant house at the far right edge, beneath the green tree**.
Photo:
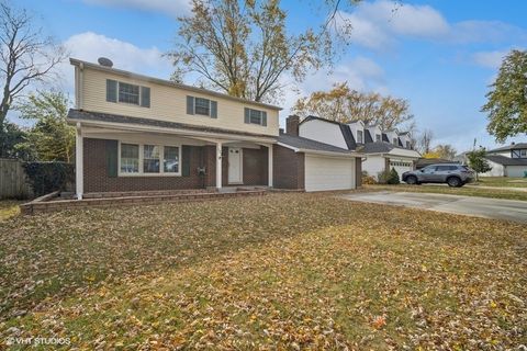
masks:
<svg viewBox="0 0 527 351"><path fill-rule="evenodd" d="M487 151L485 156L492 170L482 177L526 177L527 143L512 144Z"/></svg>

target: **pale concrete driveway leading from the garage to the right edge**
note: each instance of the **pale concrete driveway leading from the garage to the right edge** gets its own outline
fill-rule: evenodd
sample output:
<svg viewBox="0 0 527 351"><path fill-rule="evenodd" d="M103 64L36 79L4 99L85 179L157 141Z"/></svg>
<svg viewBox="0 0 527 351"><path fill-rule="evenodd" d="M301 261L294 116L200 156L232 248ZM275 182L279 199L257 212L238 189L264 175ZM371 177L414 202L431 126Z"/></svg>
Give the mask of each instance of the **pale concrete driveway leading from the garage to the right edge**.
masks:
<svg viewBox="0 0 527 351"><path fill-rule="evenodd" d="M390 191L352 193L340 197L349 201L527 223L527 201Z"/></svg>

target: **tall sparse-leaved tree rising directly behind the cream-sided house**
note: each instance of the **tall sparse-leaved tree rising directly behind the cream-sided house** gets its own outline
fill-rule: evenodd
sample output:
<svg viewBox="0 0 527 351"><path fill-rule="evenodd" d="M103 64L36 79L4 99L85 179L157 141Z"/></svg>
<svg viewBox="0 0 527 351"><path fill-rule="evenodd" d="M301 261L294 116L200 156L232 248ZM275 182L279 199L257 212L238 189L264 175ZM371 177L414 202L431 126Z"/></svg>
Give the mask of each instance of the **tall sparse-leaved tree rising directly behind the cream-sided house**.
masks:
<svg viewBox="0 0 527 351"><path fill-rule="evenodd" d="M355 0L348 0L355 2ZM340 2L339 0L337 2ZM337 3L324 23L303 33L287 27L280 0L192 0L192 13L178 19L172 80L195 72L203 86L255 101L280 98L285 73L302 81L311 70L330 66L348 26L335 36ZM341 43L341 42L340 42Z"/></svg>

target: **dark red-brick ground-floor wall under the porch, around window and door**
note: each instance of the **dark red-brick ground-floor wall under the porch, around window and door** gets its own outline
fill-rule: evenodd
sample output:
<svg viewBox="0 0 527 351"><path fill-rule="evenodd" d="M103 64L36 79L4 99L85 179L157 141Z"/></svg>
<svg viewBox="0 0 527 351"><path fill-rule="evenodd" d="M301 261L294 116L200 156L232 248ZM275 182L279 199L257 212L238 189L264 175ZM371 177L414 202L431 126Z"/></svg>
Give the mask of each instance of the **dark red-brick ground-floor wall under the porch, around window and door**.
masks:
<svg viewBox="0 0 527 351"><path fill-rule="evenodd" d="M122 192L153 190L203 189L216 185L215 146L192 146L190 151L190 176L110 177L106 170L104 139L85 138L83 178L85 192ZM223 185L228 185L227 148L222 150ZM244 185L267 185L267 148L244 148ZM198 168L205 167L204 177Z"/></svg>

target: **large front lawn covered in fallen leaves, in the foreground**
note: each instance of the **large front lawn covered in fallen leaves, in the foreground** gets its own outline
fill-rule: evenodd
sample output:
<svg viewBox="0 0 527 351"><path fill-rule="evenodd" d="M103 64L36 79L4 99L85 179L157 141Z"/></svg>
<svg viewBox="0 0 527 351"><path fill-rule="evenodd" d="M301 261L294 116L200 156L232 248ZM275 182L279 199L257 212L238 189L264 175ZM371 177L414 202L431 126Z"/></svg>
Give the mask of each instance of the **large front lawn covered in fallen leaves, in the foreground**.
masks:
<svg viewBox="0 0 527 351"><path fill-rule="evenodd" d="M19 216L0 224L0 340L514 348L526 249L520 224L327 194Z"/></svg>

